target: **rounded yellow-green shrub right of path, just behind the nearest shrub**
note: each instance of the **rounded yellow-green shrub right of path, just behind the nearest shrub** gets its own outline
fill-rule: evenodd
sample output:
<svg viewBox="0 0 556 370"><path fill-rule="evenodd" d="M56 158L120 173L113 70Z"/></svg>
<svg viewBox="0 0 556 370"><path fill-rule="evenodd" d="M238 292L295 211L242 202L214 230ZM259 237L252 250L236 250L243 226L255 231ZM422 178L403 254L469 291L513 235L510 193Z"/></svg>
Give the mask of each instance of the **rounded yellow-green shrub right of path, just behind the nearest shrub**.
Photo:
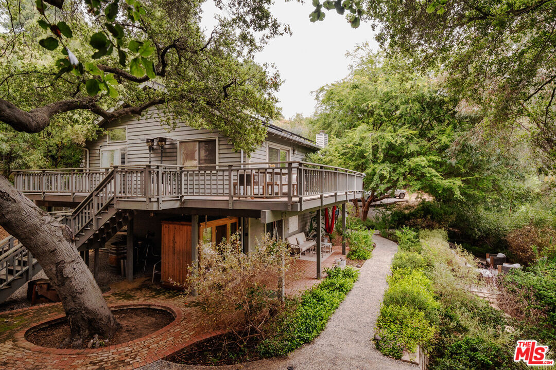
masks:
<svg viewBox="0 0 556 370"><path fill-rule="evenodd" d="M432 293L432 282L418 270L396 270L388 278L389 288L384 293L385 306L398 305L414 307L423 311L426 318L435 321L439 304Z"/></svg>

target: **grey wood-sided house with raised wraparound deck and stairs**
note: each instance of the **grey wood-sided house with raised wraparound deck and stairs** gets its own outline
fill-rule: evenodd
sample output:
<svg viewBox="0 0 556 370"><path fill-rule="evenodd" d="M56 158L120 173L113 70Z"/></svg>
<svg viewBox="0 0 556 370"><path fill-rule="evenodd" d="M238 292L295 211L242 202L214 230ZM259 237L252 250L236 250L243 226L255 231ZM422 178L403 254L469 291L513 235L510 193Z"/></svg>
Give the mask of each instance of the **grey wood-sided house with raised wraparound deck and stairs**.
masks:
<svg viewBox="0 0 556 370"><path fill-rule="evenodd" d="M253 153L235 151L219 131L186 124L168 131L157 111L100 124L107 134L86 144L83 168L21 170L14 185L39 206L70 207L58 216L80 251L97 255L127 229L115 255L125 257L130 279L138 241L160 246L162 280L179 281L199 257L199 240L217 243L239 231L249 253L262 233L285 239L306 232L311 213L320 223L321 209L344 205L345 212L345 203L363 194L363 174L305 163L320 146L271 124ZM32 276L38 266L29 261ZM320 278L318 252L316 265ZM0 288L7 284L0 280Z"/></svg>

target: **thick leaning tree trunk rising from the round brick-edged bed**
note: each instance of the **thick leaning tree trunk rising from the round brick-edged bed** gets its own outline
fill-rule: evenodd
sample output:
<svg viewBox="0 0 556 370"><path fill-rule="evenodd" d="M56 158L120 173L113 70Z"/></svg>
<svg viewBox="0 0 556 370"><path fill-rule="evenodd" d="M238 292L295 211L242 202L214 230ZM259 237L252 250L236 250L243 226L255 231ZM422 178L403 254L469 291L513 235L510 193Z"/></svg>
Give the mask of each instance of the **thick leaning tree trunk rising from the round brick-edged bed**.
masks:
<svg viewBox="0 0 556 370"><path fill-rule="evenodd" d="M0 225L31 251L56 288L73 346L88 334L114 334L118 323L81 259L72 232L18 192L4 176L0 176Z"/></svg>

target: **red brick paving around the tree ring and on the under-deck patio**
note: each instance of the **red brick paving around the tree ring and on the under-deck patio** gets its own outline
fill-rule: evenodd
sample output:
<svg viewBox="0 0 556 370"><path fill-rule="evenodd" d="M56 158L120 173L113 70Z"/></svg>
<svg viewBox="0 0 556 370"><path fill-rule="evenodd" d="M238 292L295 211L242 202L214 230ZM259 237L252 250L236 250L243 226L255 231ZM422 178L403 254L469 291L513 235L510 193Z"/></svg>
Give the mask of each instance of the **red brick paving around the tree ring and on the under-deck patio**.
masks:
<svg viewBox="0 0 556 370"><path fill-rule="evenodd" d="M322 269L331 267L341 256L341 247L322 262ZM314 261L296 260L298 280L287 286L287 294L306 290L316 279ZM324 275L324 274L323 274ZM323 276L324 277L324 276ZM108 306L123 308L155 305L176 315L170 325L147 337L98 349L56 349L39 347L24 338L24 333L39 323L63 317L60 303L47 303L0 313L0 369L134 369L165 358L191 344L217 333L202 328L201 312L188 307L187 298L179 292L151 285L149 279L132 283L120 282L105 294Z"/></svg>

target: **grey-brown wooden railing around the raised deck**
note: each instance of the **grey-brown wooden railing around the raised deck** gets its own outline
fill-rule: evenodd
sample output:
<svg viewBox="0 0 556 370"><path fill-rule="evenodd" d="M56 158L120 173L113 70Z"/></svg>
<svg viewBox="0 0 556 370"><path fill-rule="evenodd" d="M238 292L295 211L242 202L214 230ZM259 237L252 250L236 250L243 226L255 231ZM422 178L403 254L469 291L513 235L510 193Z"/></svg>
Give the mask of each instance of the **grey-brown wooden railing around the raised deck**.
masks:
<svg viewBox="0 0 556 370"><path fill-rule="evenodd" d="M22 170L15 186L23 192L90 193L111 174L111 169ZM272 162L216 165L191 169L175 165L141 164L113 166L115 199L146 202L180 197L229 197L287 199L291 204L311 196L353 194L363 191L364 175L338 167L306 162Z"/></svg>

